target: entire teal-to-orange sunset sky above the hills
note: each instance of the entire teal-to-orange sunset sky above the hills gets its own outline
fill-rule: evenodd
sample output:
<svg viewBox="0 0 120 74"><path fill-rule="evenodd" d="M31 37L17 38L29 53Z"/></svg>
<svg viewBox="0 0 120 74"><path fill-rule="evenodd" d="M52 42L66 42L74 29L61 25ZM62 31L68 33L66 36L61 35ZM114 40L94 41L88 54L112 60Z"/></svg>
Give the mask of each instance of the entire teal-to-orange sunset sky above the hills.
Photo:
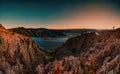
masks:
<svg viewBox="0 0 120 74"><path fill-rule="evenodd" d="M120 27L118 0L0 0L6 28L112 29Z"/></svg>

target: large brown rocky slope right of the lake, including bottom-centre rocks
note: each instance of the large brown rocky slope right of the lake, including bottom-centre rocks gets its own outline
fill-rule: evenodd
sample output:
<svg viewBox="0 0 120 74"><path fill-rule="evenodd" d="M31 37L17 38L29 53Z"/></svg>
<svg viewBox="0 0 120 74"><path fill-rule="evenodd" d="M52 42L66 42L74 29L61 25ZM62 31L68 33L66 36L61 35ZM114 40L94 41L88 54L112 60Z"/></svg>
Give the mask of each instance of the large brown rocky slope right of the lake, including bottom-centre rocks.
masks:
<svg viewBox="0 0 120 74"><path fill-rule="evenodd" d="M120 74L120 29L69 39L55 51L54 61L38 65L38 74Z"/></svg>

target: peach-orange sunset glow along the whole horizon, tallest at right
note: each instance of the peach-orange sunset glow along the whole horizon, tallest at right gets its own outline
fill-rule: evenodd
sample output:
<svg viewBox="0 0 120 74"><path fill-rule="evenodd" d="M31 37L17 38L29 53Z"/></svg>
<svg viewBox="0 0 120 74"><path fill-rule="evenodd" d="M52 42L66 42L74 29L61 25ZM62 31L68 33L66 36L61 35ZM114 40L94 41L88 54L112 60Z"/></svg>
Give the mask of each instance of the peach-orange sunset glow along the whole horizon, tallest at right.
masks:
<svg viewBox="0 0 120 74"><path fill-rule="evenodd" d="M70 15L67 15L69 13ZM1 21L0 21L1 22ZM48 28L48 29L112 29L120 27L120 14L116 9L111 5L87 5L83 9L77 8L73 12L64 12L60 15L59 18L56 18L52 22L36 22L36 23L27 23L31 25L25 25L26 23L16 24L17 22L7 22L9 25L5 27L27 27L27 28ZM16 24L16 25L13 25ZM35 25L34 25L35 24Z"/></svg>

